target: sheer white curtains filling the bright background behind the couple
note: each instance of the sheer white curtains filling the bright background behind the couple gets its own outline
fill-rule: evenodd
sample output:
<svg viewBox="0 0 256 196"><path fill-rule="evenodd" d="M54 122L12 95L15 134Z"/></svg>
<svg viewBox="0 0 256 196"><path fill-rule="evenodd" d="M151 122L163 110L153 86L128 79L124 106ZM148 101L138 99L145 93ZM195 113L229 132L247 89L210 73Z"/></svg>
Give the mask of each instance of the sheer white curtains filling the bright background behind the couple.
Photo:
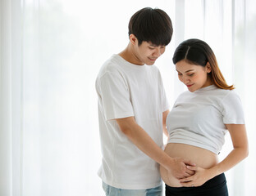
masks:
<svg viewBox="0 0 256 196"><path fill-rule="evenodd" d="M142 7L162 8L174 25L157 62L171 104L185 90L175 47L201 38L215 51L249 135L249 157L226 172L230 195L256 191L254 0L0 0L0 196L103 195L94 81L126 47L130 16ZM220 159L231 148L226 136Z"/></svg>

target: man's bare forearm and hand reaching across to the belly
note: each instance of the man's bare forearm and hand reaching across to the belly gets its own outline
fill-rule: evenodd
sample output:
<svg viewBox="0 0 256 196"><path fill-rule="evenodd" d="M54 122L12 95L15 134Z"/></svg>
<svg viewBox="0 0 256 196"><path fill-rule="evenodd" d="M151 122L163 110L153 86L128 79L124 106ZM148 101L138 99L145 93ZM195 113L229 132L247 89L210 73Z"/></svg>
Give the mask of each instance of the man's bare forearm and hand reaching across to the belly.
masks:
<svg viewBox="0 0 256 196"><path fill-rule="evenodd" d="M117 124L121 131L150 158L153 158L157 163L165 167L177 179L184 178L194 174L186 165L193 165L189 161L182 158L171 158L166 154L148 135L142 127L139 127L135 122L134 117L118 118Z"/></svg>

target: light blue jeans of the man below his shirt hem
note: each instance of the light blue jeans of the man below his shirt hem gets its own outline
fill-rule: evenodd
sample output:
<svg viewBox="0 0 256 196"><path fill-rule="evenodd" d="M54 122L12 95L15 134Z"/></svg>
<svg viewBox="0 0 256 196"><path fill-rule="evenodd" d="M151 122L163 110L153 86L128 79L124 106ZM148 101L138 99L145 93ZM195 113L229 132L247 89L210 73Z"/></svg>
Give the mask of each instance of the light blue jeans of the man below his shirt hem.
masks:
<svg viewBox="0 0 256 196"><path fill-rule="evenodd" d="M106 196L162 196L162 185L152 189L117 189L103 182Z"/></svg>

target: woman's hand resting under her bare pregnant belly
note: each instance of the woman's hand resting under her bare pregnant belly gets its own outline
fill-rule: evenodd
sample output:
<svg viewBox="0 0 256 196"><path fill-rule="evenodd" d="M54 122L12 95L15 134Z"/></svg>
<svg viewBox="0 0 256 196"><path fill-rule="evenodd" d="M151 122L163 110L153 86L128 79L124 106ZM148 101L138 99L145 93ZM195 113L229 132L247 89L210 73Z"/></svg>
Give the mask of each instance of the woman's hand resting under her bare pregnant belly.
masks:
<svg viewBox="0 0 256 196"><path fill-rule="evenodd" d="M182 186L191 187L191 186L200 186L203 185L206 181L212 179L214 174L209 169L203 169L202 167L192 167L187 166L188 169L194 171L193 176L185 177L180 180Z"/></svg>

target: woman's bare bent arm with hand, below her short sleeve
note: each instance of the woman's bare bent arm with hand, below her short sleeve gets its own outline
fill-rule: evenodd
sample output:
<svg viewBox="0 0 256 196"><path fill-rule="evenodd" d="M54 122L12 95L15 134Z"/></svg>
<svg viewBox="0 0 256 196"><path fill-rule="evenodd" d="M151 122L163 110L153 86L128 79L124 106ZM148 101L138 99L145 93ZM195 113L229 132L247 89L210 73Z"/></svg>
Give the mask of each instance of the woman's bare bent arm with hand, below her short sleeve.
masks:
<svg viewBox="0 0 256 196"><path fill-rule="evenodd" d="M228 154L222 162L210 169L187 166L189 169L194 170L195 174L194 176L182 179L181 185L186 187L203 185L207 180L231 169L231 167L234 167L237 163L240 163L240 161L248 156L249 150L245 125L226 124L226 128L231 134L231 140L234 147L231 153Z"/></svg>

